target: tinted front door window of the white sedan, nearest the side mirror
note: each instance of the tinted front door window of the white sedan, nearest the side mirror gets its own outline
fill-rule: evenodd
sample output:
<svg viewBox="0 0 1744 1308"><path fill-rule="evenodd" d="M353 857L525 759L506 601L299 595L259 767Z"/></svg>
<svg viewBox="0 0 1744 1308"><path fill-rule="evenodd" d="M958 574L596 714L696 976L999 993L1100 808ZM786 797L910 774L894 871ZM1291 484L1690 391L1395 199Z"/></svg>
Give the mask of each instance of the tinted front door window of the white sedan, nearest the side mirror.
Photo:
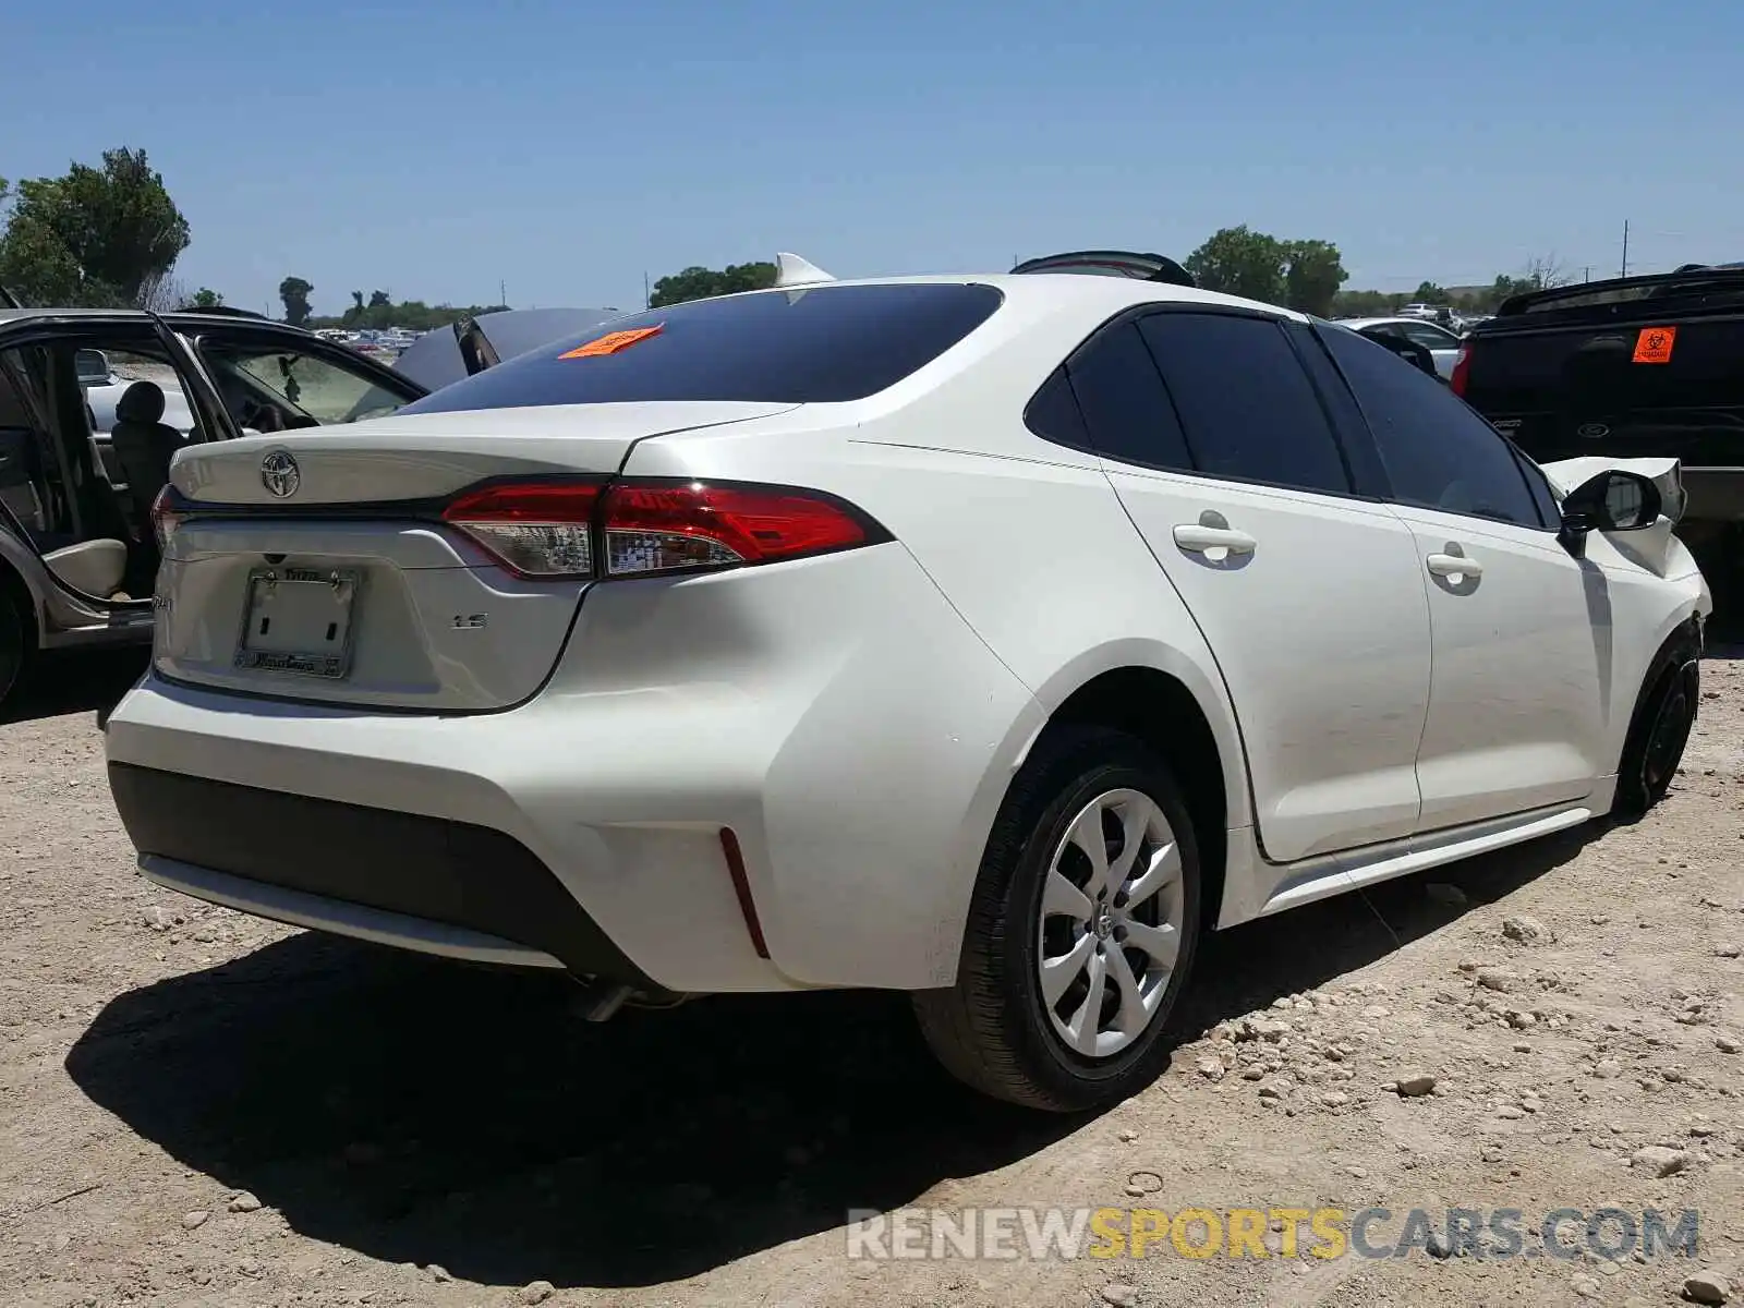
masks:
<svg viewBox="0 0 1744 1308"><path fill-rule="evenodd" d="M1322 328L1369 420L1400 504L1538 527L1514 452L1434 377L1343 328Z"/></svg>

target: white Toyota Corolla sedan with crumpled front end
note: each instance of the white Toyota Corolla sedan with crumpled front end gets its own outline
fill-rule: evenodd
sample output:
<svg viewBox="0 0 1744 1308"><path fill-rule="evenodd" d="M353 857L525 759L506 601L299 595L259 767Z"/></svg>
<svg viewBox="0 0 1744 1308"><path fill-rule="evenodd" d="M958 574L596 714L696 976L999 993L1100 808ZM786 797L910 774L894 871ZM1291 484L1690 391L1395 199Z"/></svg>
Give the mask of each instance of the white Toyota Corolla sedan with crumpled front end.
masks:
<svg viewBox="0 0 1744 1308"><path fill-rule="evenodd" d="M1536 467L1165 260L785 267L183 450L108 724L145 875L595 1017L912 991L964 1081L1083 1109L1205 931L1664 794L1674 460Z"/></svg>

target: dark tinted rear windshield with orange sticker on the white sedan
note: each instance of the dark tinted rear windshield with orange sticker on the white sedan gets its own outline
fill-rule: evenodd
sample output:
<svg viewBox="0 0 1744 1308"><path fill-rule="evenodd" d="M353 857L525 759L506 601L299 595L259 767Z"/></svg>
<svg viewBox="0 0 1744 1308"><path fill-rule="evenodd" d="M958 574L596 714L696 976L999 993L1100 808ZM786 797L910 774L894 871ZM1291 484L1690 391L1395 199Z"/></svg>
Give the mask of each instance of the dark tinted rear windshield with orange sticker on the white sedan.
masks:
<svg viewBox="0 0 1744 1308"><path fill-rule="evenodd" d="M692 300L614 317L528 351L401 413L637 399L863 399L956 345L999 300L992 286L961 283L802 286Z"/></svg>

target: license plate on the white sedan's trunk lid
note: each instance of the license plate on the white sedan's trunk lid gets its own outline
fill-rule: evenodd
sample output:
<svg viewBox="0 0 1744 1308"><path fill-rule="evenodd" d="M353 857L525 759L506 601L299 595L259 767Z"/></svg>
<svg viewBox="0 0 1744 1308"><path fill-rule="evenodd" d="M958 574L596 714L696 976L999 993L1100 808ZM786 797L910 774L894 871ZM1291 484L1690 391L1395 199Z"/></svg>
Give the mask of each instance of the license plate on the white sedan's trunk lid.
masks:
<svg viewBox="0 0 1744 1308"><path fill-rule="evenodd" d="M337 680L351 670L351 619L358 574L330 569L255 569L237 668Z"/></svg>

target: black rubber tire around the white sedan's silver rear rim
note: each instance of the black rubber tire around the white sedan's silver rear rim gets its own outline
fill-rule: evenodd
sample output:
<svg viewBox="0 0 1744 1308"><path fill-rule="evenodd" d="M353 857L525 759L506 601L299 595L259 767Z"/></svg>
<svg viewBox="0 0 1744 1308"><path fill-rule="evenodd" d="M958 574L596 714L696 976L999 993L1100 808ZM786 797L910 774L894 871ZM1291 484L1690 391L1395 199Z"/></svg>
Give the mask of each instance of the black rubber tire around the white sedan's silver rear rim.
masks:
<svg viewBox="0 0 1744 1308"><path fill-rule="evenodd" d="M1118 788L1148 795L1174 828L1184 914L1175 966L1149 1024L1118 1053L1090 1059L1067 1046L1043 1006L1036 970L1041 889L1074 816ZM1193 968L1198 933L1198 844L1168 767L1125 732L1050 731L994 821L970 902L957 984L914 996L921 1031L952 1076L987 1095L1053 1113L1107 1107L1163 1071L1163 1031Z"/></svg>

